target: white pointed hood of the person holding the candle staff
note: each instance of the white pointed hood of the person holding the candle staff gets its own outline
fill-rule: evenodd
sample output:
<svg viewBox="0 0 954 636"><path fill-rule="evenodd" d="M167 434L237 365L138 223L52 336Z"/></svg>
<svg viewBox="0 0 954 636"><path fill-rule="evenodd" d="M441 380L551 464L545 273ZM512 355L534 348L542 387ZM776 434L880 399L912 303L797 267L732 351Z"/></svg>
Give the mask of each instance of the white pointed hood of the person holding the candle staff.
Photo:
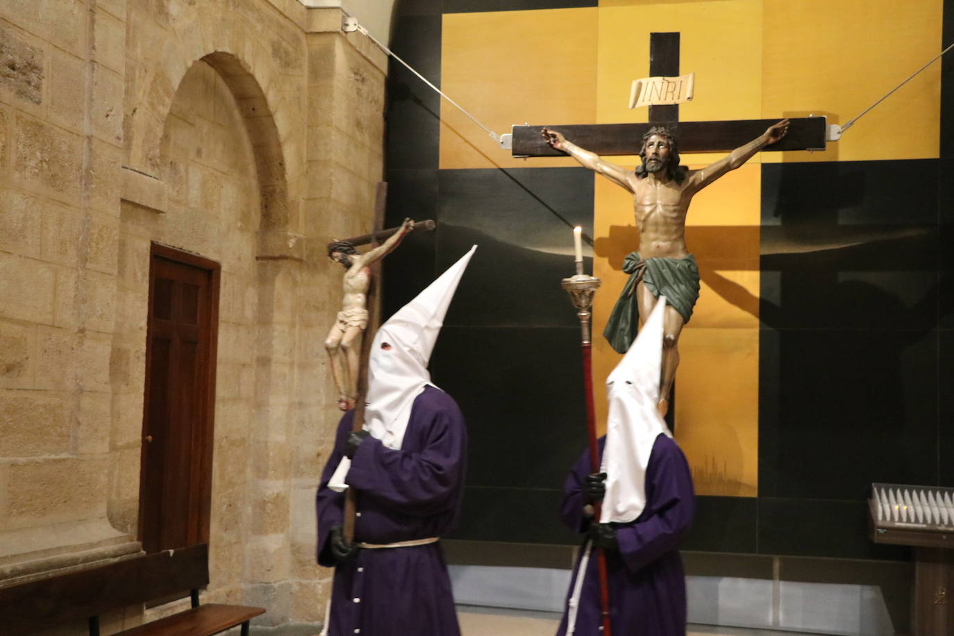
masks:
<svg viewBox="0 0 954 636"><path fill-rule="evenodd" d="M658 411L663 315L659 297L630 350L606 380L610 401L601 471L606 495L601 523L628 523L646 507L646 467L660 433L673 437Z"/></svg>

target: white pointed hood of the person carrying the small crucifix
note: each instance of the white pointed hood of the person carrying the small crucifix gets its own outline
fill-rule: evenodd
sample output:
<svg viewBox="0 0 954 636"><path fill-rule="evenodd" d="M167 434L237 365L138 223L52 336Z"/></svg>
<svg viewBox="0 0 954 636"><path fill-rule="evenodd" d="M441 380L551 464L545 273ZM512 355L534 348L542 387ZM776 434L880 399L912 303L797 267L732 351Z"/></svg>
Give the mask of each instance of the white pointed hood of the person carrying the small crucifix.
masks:
<svg viewBox="0 0 954 636"><path fill-rule="evenodd" d="M371 343L367 366L364 428L388 448L399 449L414 399L430 381L427 363L457 284L477 246L447 268L413 300L388 318ZM384 345L387 345L384 347ZM342 458L328 487L341 492L351 461Z"/></svg>

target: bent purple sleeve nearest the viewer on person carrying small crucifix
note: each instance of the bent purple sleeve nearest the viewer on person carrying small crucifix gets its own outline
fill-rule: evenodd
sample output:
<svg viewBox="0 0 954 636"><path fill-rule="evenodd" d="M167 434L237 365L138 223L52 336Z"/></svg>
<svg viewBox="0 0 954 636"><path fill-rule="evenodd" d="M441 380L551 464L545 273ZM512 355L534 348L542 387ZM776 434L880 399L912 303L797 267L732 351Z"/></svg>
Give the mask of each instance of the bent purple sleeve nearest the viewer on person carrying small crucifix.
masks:
<svg viewBox="0 0 954 636"><path fill-rule="evenodd" d="M411 421L426 431L419 451L395 450L367 438L351 458L344 481L360 490L362 497L425 517L457 505L456 494L464 481L467 430L456 402L445 395L416 403Z"/></svg>

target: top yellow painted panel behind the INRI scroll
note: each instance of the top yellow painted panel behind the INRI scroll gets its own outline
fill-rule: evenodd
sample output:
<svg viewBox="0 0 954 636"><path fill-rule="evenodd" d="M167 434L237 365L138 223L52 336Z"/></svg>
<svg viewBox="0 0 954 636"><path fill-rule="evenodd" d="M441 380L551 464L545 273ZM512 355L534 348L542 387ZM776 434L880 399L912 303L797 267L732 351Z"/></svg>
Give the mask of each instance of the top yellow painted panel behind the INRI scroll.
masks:
<svg viewBox="0 0 954 636"><path fill-rule="evenodd" d="M762 3L753 0L601 4L597 122L647 121L648 109L628 105L633 79L649 75L651 31L679 31L679 72L695 72L695 97L679 119L759 117L761 26Z"/></svg>

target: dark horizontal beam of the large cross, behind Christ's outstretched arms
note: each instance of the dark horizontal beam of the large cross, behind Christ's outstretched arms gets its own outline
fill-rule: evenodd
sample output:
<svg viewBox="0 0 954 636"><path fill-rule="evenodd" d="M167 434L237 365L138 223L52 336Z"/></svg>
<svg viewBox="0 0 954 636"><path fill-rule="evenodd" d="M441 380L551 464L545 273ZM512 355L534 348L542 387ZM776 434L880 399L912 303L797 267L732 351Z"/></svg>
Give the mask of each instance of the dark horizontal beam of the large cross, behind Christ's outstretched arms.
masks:
<svg viewBox="0 0 954 636"><path fill-rule="evenodd" d="M728 153L755 139L765 129L778 122L774 119L735 119L728 121L673 121L665 125L675 133L679 154ZM767 146L764 151L796 151L825 149L825 117L795 117L788 134L781 141ZM643 134L655 124L579 124L560 126L546 124L553 131L596 154L638 154ZM540 135L539 126L514 126L513 150L515 157L566 156L553 150Z"/></svg>

